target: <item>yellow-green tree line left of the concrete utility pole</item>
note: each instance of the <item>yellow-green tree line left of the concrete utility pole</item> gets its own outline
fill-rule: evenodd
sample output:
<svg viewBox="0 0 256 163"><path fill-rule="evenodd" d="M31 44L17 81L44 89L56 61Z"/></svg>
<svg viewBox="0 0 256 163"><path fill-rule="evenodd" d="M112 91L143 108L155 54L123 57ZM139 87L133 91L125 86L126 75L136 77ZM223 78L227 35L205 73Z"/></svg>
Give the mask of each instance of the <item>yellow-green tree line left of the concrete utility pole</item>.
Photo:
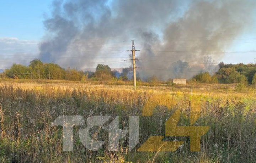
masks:
<svg viewBox="0 0 256 163"><path fill-rule="evenodd" d="M0 78L12 79L48 79L48 80L71 80L85 81L88 78L91 80L106 81L116 80L117 76L122 80L128 80L127 74L129 68L123 69L123 72L118 74L117 71L111 71L107 65L98 64L95 72L78 71L76 69L64 69L55 63L43 63L40 60L32 60L28 66L22 64L13 64L10 69L0 73Z"/></svg>

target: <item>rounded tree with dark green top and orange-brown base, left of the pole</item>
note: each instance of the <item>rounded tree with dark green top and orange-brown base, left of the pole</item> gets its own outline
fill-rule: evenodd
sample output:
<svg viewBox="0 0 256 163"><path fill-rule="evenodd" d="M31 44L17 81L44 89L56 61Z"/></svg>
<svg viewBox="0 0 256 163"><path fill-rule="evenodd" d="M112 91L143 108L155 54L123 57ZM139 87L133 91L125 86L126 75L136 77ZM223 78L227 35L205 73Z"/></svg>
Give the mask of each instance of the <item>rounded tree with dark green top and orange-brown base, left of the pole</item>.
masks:
<svg viewBox="0 0 256 163"><path fill-rule="evenodd" d="M113 74L108 65L98 64L95 71L95 78L100 81L111 80Z"/></svg>

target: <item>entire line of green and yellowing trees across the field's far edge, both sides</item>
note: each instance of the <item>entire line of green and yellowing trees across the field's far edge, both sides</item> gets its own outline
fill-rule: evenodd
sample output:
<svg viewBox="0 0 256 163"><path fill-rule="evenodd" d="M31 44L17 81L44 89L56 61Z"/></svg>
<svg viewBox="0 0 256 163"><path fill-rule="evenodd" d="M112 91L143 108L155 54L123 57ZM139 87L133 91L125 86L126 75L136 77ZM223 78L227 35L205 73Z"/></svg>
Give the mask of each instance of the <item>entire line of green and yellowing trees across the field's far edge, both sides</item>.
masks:
<svg viewBox="0 0 256 163"><path fill-rule="evenodd" d="M219 70L210 74L202 72L195 75L191 81L196 83L242 83L256 84L256 64L224 64L219 63ZM108 80L131 80L128 74L131 68L124 68L121 73L111 71L108 65L98 64L95 72L78 71L76 69L64 69L55 63L43 63L40 60L32 60L28 66L13 64L10 69L0 73L0 78L12 79L47 79L47 80L73 80L86 81L108 81ZM139 79L139 74L137 74ZM148 82L160 81L156 76L149 77Z"/></svg>

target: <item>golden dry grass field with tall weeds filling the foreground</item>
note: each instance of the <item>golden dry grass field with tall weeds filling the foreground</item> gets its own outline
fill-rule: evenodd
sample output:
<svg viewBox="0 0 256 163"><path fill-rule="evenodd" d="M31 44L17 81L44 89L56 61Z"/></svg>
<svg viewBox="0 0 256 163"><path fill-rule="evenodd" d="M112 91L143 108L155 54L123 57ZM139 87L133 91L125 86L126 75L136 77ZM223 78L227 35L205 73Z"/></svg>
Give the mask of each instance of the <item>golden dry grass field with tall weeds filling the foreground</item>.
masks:
<svg viewBox="0 0 256 163"><path fill-rule="evenodd" d="M148 100L158 103L153 116L143 116ZM163 102L164 101L164 102ZM201 137L201 151L190 151L187 136L175 152L141 152L150 136L165 136L165 122L181 110L179 126L190 126L191 110L200 108L196 126L209 126ZM168 85L140 83L0 80L0 162L255 162L256 90L239 84ZM129 116L140 116L139 144L128 150L128 135L117 152L107 145L87 150L74 127L74 150L63 151L62 126L52 122L61 115L119 116L120 129ZM98 131L102 139L106 132ZM99 136L100 135L100 136Z"/></svg>

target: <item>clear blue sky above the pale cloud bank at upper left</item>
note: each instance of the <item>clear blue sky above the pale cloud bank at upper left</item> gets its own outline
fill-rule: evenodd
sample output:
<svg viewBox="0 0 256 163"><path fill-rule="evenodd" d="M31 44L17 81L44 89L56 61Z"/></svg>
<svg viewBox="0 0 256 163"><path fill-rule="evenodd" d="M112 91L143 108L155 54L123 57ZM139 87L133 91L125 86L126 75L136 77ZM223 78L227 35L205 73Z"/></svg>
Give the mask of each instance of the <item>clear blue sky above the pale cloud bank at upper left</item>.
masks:
<svg viewBox="0 0 256 163"><path fill-rule="evenodd" d="M39 40L52 0L0 0L0 37Z"/></svg>

